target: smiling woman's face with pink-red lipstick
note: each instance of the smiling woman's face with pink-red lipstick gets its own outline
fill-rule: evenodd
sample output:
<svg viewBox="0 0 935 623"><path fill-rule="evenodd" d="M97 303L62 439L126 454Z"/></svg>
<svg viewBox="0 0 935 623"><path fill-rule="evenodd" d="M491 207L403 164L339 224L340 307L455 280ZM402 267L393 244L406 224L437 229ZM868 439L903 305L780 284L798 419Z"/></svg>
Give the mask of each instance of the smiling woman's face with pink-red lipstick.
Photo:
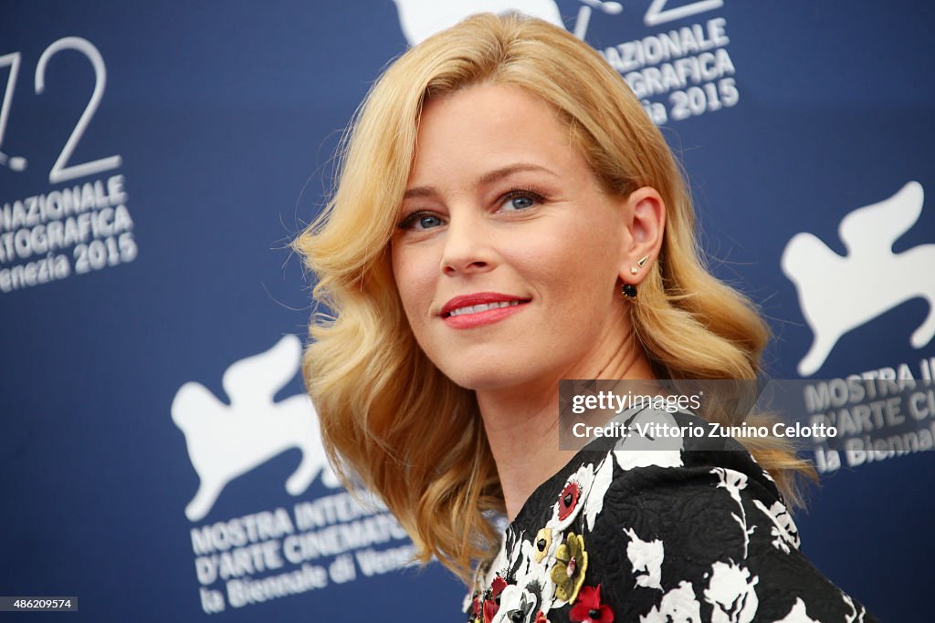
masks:
<svg viewBox="0 0 935 623"><path fill-rule="evenodd" d="M412 332L458 385L597 377L626 340L626 198L538 96L483 84L430 100L397 222Z"/></svg>

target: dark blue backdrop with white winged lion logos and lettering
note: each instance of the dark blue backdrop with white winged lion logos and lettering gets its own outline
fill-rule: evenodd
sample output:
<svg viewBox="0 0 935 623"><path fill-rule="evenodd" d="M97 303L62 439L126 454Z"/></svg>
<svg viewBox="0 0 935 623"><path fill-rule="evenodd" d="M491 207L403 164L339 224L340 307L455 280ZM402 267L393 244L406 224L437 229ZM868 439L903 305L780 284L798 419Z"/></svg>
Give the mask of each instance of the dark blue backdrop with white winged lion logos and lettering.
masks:
<svg viewBox="0 0 935 623"><path fill-rule="evenodd" d="M932 376L928 3L6 0L0 595L77 595L88 621L461 619L458 583L406 567L324 466L286 245L381 67L511 4L560 14L665 128L771 375ZM883 619L930 620L935 455L822 457L802 549Z"/></svg>

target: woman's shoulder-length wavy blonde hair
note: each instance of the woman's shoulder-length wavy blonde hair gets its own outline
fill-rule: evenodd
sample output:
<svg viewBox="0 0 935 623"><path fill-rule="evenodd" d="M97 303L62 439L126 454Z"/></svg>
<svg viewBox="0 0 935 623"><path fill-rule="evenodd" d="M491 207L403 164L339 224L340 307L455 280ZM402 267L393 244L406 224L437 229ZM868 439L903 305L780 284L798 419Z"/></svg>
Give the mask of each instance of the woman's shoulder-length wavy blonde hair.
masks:
<svg viewBox="0 0 935 623"><path fill-rule="evenodd" d="M606 190L653 187L667 206L658 261L627 305L659 378L753 379L770 333L754 305L706 269L691 199L663 136L626 82L588 45L545 21L480 14L403 54L374 84L339 149L338 184L294 241L318 277L303 373L324 446L345 482L378 493L417 545L468 580L504 512L474 394L416 343L388 241L406 191L422 106L478 83L517 85L554 106ZM796 474L783 440L744 439L787 502Z"/></svg>

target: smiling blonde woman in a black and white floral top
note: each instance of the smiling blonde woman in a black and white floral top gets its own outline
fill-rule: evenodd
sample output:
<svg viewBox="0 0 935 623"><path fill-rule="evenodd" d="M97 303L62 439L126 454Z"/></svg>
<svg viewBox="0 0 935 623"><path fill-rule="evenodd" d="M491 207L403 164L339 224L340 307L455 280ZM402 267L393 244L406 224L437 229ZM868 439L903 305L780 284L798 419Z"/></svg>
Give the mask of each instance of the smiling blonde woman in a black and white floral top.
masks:
<svg viewBox="0 0 935 623"><path fill-rule="evenodd" d="M468 620L873 620L799 553L814 473L779 440L559 449L563 378L755 378L767 328L694 229L640 102L543 21L474 16L367 96L295 242L330 310L304 373L331 459Z"/></svg>

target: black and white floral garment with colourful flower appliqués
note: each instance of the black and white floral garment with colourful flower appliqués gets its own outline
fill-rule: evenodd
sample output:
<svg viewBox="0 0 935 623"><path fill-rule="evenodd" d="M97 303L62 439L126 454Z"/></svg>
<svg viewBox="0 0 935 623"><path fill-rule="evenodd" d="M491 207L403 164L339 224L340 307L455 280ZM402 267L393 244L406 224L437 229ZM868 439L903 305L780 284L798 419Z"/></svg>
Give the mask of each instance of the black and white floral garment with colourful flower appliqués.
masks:
<svg viewBox="0 0 935 623"><path fill-rule="evenodd" d="M628 421L703 423L640 411ZM606 441L606 440L605 440ZM465 602L471 623L870 623L798 550L733 439L592 444L530 496Z"/></svg>

